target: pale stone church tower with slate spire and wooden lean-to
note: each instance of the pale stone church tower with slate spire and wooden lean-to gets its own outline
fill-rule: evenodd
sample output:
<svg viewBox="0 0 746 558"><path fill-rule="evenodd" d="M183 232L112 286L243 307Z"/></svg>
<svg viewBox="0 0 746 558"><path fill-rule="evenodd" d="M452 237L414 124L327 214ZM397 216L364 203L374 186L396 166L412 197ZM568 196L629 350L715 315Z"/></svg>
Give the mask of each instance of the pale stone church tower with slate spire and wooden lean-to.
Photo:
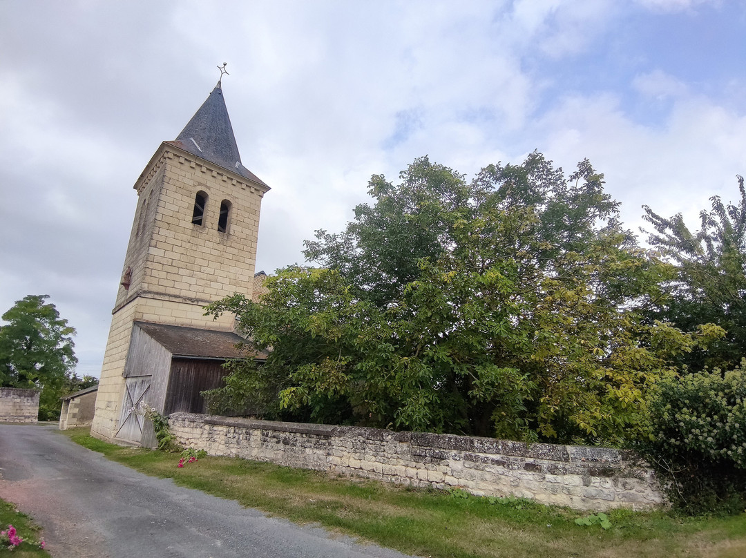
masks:
<svg viewBox="0 0 746 558"><path fill-rule="evenodd" d="M204 412L199 391L219 386L236 356L233 316L203 307L252 295L262 197L241 163L219 81L175 141L134 185L138 204L116 295L91 433L152 445L134 410Z"/></svg>

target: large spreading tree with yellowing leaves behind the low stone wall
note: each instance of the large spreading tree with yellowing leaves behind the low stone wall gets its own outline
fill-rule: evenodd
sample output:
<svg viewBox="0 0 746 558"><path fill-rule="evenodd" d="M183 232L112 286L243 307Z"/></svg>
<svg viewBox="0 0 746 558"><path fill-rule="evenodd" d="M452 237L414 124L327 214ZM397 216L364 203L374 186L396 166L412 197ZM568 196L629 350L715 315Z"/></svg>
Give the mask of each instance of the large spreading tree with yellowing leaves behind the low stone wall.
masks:
<svg viewBox="0 0 746 558"><path fill-rule="evenodd" d="M715 337L647 322L673 268L634 245L587 161L565 178L534 153L471 182L416 160L345 231L307 242L320 269L234 295L263 366L236 363L213 401L269 416L515 439L639 435L671 354ZM284 413L284 414L283 414Z"/></svg>

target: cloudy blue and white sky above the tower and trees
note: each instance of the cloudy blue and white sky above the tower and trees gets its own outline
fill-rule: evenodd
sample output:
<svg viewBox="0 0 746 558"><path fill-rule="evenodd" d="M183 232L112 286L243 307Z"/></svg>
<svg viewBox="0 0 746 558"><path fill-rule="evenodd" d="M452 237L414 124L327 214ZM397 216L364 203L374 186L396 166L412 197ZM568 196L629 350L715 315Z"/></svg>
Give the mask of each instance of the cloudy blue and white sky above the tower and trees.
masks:
<svg viewBox="0 0 746 558"><path fill-rule="evenodd" d="M98 374L137 195L216 66L263 200L257 269L302 262L372 174L542 151L696 227L746 173L746 2L0 0L0 312L48 294Z"/></svg>

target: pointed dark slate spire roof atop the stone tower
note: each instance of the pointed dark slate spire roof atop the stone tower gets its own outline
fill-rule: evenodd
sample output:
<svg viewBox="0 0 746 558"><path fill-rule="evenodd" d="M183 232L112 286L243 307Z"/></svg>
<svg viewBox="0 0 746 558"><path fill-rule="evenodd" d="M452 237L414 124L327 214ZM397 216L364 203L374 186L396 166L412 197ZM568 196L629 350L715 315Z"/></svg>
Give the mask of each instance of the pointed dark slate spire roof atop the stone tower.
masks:
<svg viewBox="0 0 746 558"><path fill-rule="evenodd" d="M241 163L220 81L174 143L210 163L264 184Z"/></svg>

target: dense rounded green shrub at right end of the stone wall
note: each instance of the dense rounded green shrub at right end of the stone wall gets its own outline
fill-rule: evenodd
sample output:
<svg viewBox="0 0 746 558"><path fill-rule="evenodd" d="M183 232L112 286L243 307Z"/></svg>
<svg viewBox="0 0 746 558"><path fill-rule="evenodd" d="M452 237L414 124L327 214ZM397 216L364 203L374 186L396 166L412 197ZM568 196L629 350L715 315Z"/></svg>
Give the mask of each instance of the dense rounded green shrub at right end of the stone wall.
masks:
<svg viewBox="0 0 746 558"><path fill-rule="evenodd" d="M741 366L662 380L649 401L642 453L659 468L674 508L688 514L746 508L746 359Z"/></svg>

